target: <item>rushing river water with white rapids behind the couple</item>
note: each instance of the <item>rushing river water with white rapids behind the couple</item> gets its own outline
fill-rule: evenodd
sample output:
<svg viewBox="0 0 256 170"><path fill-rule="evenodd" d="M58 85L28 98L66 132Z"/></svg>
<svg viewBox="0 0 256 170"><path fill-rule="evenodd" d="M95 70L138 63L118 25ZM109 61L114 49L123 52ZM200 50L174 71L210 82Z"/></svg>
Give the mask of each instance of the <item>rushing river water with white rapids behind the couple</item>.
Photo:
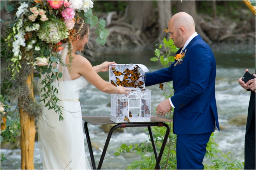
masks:
<svg viewBox="0 0 256 170"><path fill-rule="evenodd" d="M250 92L247 92L238 83L238 79L244 75L244 70L249 69L251 73L255 70L255 42L248 44L213 44L216 64L216 102L220 125L223 129L216 132L215 142L219 144L219 149L224 153L232 151L234 158L244 161L244 135L246 126L234 126L228 124L234 116L247 115ZM159 62L152 62L149 59L154 57L154 49L116 49L102 53L99 61L92 62L97 65L103 61L115 61L118 64L143 64L150 71L161 68ZM100 76L106 81L109 79L109 73L100 73ZM148 87L152 90L151 95L151 113L156 114L155 107L163 100L162 91L158 85ZM111 95L100 92L97 88L89 85L80 91L80 102L82 114L110 114ZM107 138L107 134L97 125L88 125L92 143L98 145L100 150L94 151L96 166L99 163L100 155ZM114 133L109 143L109 147L102 165L102 169L125 169L130 162L140 160L140 155L135 153L122 154L114 156L116 148L123 143L142 143L148 139L145 128L125 128L124 133ZM84 134L85 138L85 134ZM85 138L85 151L90 162L90 154ZM3 169L20 169L21 150L1 150L7 160L3 162ZM204 160L209 163L209 160ZM35 169L42 169L38 143L35 144L34 153Z"/></svg>

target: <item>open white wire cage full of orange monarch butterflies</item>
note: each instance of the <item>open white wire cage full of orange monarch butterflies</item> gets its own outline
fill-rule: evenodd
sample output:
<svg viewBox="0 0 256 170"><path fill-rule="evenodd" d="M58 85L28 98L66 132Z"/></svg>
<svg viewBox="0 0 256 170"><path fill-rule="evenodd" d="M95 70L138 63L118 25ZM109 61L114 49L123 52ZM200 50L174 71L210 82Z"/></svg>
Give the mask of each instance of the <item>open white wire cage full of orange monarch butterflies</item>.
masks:
<svg viewBox="0 0 256 170"><path fill-rule="evenodd" d="M150 122L151 90L145 88L144 65L110 65L109 82L130 88L127 94L111 94L111 118L116 123Z"/></svg>

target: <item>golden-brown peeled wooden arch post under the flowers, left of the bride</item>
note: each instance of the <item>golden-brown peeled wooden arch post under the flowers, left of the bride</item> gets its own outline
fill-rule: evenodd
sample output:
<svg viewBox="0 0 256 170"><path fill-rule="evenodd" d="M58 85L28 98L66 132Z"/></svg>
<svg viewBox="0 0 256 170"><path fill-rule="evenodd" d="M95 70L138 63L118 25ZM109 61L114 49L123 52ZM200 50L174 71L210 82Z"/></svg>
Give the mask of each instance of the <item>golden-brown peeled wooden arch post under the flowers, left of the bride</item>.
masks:
<svg viewBox="0 0 256 170"><path fill-rule="evenodd" d="M31 97L34 99L33 93L33 70L28 75L26 84L30 90ZM22 99L19 99L19 113L21 122L21 169L34 169L34 146L35 146L35 121L34 116L31 116L23 111Z"/></svg>

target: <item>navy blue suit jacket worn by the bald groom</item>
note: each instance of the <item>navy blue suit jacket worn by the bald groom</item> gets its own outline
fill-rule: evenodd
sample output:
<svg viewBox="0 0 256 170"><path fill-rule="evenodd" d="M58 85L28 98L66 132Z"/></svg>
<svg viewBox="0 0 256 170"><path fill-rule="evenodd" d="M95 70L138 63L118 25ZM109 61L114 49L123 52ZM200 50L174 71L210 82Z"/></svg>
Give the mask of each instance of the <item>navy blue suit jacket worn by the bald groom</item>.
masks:
<svg viewBox="0 0 256 170"><path fill-rule="evenodd" d="M183 63L146 73L145 86L173 81L175 134L202 134L219 128L215 99L216 62L209 45L200 35L185 48ZM184 51L185 51L184 49ZM180 53L181 49L176 54Z"/></svg>

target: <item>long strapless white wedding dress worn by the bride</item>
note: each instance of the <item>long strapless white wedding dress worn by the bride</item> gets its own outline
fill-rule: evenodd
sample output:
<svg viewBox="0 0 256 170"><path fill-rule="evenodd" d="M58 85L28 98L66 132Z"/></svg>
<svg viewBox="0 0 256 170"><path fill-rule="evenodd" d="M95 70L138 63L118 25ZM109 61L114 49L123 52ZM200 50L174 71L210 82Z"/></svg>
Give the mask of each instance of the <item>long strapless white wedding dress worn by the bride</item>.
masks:
<svg viewBox="0 0 256 170"><path fill-rule="evenodd" d="M64 49L65 50L65 49ZM66 53L62 56L65 61ZM91 169L85 155L83 122L79 102L80 89L88 85L84 76L71 80L66 67L60 66L61 80L52 83L61 99L63 121L54 109L44 108L38 126L38 145L44 169ZM66 74L66 75L65 75ZM42 87L42 86L41 86Z"/></svg>

